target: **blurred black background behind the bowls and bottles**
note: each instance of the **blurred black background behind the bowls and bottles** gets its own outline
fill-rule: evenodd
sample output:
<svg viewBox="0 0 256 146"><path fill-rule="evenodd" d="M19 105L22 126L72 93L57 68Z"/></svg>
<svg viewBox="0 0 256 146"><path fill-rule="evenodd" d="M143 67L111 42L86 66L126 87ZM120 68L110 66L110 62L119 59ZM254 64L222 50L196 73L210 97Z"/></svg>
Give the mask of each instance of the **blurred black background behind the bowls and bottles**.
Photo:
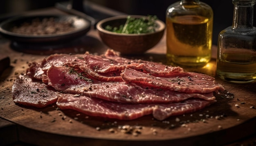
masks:
<svg viewBox="0 0 256 146"><path fill-rule="evenodd" d="M157 15L160 20L165 22L167 7L177 0L89 1L131 15ZM234 5L232 4L232 0L201 1L209 4L213 9L213 44L217 44L218 33L222 29L232 25ZM0 0L0 17L6 14L20 13L45 7L54 7L56 2L72 2L72 0Z"/></svg>

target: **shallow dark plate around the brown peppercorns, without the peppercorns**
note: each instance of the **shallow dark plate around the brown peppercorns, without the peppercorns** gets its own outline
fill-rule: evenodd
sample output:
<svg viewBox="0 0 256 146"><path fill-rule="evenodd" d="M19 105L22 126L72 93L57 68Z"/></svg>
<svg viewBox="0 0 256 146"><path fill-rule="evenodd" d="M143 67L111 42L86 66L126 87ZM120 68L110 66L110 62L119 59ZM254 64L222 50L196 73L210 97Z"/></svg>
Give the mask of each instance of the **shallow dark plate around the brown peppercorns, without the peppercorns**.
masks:
<svg viewBox="0 0 256 146"><path fill-rule="evenodd" d="M20 26L24 22L31 23L32 20L44 18L54 18L55 22L72 22L74 30L56 34L29 35L13 33L11 30L15 26ZM0 23L0 33L7 39L17 42L57 42L71 40L85 35L91 27L89 20L75 15L22 15L10 18Z"/></svg>

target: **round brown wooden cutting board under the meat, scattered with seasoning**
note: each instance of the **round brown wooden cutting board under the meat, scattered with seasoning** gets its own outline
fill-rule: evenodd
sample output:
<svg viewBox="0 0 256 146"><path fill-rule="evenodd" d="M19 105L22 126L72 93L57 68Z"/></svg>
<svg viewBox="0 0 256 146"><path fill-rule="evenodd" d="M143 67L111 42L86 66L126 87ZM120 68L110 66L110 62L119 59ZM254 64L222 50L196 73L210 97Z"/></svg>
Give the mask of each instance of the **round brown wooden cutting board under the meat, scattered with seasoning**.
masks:
<svg viewBox="0 0 256 146"><path fill-rule="evenodd" d="M215 104L191 114L169 117L164 121L147 115L132 121L92 117L56 105L33 108L14 104L13 81L24 74L28 62L40 61L51 53L103 53L97 33L89 32L82 44L62 49L17 50L10 42L0 44L0 53L9 55L11 66L0 77L0 117L17 126L18 140L36 145L223 145L256 133L256 84L230 84L216 77L227 91L216 96ZM163 61L163 40L144 56L133 58ZM23 53L21 53L21 52ZM25 52L25 53L24 53ZM39 55L38 55L39 54ZM216 61L208 68L193 69L215 75ZM193 71L192 70L192 71ZM226 96L227 95L227 96ZM238 105L238 106L235 106ZM124 128L130 127L128 132ZM8 137L7 137L8 138Z"/></svg>

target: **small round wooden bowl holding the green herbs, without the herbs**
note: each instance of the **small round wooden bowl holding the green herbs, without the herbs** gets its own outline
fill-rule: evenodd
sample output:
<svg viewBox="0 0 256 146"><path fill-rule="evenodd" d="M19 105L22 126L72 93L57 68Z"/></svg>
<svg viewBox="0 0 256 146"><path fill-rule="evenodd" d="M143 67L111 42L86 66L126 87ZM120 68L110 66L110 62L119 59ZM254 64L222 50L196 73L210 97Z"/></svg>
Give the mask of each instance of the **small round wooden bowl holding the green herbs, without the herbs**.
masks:
<svg viewBox="0 0 256 146"><path fill-rule="evenodd" d="M120 33L108 29L108 27L119 28L120 25L125 26L128 17L148 19L148 16L144 15L120 15L106 18L97 23L96 28L99 36L110 49L119 51L122 55L139 55L151 49L162 39L165 24L159 19L152 23L154 24L154 31L146 33Z"/></svg>

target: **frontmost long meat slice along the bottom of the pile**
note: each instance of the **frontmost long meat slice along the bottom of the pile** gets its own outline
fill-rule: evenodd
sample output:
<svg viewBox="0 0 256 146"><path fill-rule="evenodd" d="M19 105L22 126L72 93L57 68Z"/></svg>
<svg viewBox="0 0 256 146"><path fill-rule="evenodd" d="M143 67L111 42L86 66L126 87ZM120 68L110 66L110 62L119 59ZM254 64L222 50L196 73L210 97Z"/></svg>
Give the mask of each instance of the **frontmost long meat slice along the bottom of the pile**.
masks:
<svg viewBox="0 0 256 146"><path fill-rule="evenodd" d="M164 120L170 116L191 113L205 108L216 100L185 100L174 104L122 104L90 98L86 96L74 97L70 94L59 94L56 102L60 109L73 109L91 116L132 120L153 113L153 117Z"/></svg>

